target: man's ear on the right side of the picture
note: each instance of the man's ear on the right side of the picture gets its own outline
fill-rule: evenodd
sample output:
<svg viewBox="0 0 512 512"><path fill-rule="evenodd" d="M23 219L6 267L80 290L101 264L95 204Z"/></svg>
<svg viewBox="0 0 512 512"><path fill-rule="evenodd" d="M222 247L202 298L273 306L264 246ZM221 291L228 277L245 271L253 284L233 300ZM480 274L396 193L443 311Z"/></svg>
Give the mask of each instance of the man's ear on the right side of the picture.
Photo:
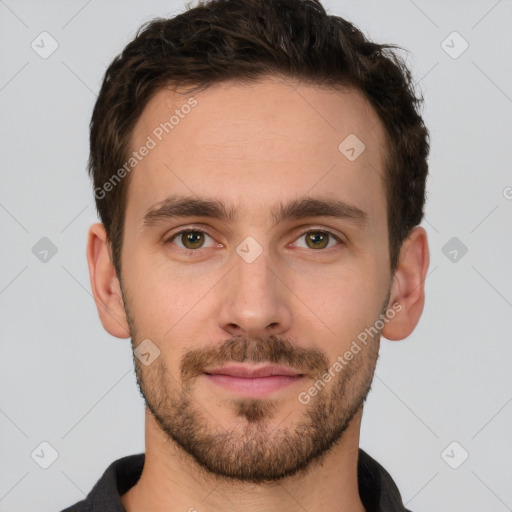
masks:
<svg viewBox="0 0 512 512"><path fill-rule="evenodd" d="M388 340L402 340L418 324L425 304L425 278L430 261L427 232L415 227L402 245L393 276L388 308L396 315L385 324L382 336Z"/></svg>

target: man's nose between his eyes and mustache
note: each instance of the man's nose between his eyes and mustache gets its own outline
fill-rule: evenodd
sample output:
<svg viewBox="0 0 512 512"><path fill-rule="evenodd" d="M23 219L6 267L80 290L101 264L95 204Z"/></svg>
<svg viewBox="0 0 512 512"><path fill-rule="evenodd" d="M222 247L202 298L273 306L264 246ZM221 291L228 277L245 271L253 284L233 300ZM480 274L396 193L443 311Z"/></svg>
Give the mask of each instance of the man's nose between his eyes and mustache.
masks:
<svg viewBox="0 0 512 512"><path fill-rule="evenodd" d="M265 251L251 263L235 255L223 280L219 325L230 335L264 337L290 329L292 292Z"/></svg>

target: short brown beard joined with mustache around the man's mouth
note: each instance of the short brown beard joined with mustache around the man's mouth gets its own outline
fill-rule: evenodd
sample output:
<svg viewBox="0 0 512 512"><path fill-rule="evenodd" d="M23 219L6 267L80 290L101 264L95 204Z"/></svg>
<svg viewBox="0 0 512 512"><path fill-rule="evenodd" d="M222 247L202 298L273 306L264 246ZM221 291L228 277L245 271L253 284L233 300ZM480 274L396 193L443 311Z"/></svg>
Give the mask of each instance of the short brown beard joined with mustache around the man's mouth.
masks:
<svg viewBox="0 0 512 512"><path fill-rule="evenodd" d="M381 314L388 300L389 293ZM125 310L135 348L142 339L126 301ZM293 395L300 420L286 426L285 417L273 428L269 423L279 412L280 402L269 398L231 399L234 420L229 429L222 427L193 396L201 365L212 361L266 361L298 367L301 363L313 367L321 379L329 368L323 352L299 349L272 335L254 340L235 336L220 347L186 353L181 362L181 382L169 373L163 357L146 367L135 355L133 359L146 407L168 440L195 461L201 472L221 480L271 483L307 472L342 439L371 390L379 344L380 332L346 361L330 387L318 391L308 404L301 404L298 395Z"/></svg>

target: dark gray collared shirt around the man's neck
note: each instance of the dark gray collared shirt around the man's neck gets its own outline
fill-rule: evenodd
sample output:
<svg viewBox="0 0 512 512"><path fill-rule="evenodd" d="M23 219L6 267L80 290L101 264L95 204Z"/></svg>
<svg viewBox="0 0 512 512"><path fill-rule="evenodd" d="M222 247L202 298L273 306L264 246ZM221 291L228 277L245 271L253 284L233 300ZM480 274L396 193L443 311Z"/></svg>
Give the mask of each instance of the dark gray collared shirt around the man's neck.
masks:
<svg viewBox="0 0 512 512"><path fill-rule="evenodd" d="M144 458L144 453L139 453L114 461L84 500L61 512L126 512L121 496L137 483ZM361 448L357 479L366 512L411 512L404 507L389 473Z"/></svg>

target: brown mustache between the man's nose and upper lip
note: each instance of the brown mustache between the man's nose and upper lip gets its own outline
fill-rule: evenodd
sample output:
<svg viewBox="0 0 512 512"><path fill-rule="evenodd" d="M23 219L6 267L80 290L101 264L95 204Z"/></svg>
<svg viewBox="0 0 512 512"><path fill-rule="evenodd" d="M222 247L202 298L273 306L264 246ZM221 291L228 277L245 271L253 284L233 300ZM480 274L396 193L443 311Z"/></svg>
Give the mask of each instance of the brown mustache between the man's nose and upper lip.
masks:
<svg viewBox="0 0 512 512"><path fill-rule="evenodd" d="M265 338L234 336L219 346L188 351L180 363L182 382L201 375L210 365L237 363L283 364L301 373L326 373L329 361L318 349L296 347L285 338L270 335Z"/></svg>

